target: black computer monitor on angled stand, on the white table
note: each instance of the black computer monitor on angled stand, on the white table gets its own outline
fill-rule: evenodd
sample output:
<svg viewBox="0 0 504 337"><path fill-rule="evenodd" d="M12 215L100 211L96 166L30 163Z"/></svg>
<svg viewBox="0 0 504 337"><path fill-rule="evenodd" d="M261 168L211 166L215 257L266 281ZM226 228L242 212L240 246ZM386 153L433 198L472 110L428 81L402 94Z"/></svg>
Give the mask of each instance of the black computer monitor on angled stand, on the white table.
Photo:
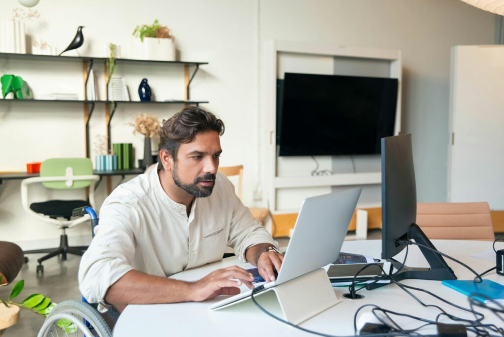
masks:
<svg viewBox="0 0 504 337"><path fill-rule="evenodd" d="M382 259L388 259L396 268L400 268L402 262L394 256L406 247L398 241L414 240L435 249L415 221L416 183L411 135L382 138ZM443 257L422 247L420 250L430 268L403 266L395 274L396 280L457 279Z"/></svg>

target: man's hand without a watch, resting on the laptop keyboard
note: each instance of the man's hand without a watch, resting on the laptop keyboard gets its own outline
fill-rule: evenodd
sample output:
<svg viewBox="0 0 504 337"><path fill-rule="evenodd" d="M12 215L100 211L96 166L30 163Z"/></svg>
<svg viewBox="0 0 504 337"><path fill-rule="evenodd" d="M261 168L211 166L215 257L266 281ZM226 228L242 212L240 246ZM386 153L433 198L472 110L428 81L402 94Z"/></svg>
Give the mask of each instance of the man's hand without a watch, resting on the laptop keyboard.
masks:
<svg viewBox="0 0 504 337"><path fill-rule="evenodd" d="M191 297L193 301L199 302L218 295L237 295L240 293L238 287L242 283L254 289L251 282L253 280L254 276L251 273L238 266L217 269L192 284Z"/></svg>

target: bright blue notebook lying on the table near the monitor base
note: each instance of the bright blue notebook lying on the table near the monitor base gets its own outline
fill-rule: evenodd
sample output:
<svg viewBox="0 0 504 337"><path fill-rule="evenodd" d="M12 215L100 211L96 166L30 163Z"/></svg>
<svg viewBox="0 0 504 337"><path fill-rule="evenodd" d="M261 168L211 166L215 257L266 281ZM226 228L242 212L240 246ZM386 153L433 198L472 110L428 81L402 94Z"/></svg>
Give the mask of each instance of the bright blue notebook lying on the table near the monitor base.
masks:
<svg viewBox="0 0 504 337"><path fill-rule="evenodd" d="M444 280L441 283L467 296L477 293L488 296L498 303L504 303L504 286L489 279L484 279L481 283L476 283L473 280L455 279ZM486 304L492 303L483 297L474 296L474 298Z"/></svg>

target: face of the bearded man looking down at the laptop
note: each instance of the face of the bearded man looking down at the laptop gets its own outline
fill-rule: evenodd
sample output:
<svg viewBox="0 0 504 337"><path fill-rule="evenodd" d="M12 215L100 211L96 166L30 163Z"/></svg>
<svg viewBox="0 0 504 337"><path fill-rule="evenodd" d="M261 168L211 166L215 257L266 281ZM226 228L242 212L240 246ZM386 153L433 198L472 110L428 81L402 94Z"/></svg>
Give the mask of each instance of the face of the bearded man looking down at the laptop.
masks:
<svg viewBox="0 0 504 337"><path fill-rule="evenodd" d="M221 152L216 131L198 133L191 143L180 144L171 170L175 185L197 198L210 196Z"/></svg>

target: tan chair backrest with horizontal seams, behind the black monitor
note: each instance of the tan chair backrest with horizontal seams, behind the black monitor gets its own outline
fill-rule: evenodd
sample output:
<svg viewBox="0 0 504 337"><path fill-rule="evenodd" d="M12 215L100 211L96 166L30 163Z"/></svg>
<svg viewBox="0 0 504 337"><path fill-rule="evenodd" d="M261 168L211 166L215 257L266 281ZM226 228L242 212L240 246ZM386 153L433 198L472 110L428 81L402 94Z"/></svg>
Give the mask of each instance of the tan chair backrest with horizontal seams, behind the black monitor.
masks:
<svg viewBox="0 0 504 337"><path fill-rule="evenodd" d="M429 239L495 240L487 202L418 203L416 223Z"/></svg>

